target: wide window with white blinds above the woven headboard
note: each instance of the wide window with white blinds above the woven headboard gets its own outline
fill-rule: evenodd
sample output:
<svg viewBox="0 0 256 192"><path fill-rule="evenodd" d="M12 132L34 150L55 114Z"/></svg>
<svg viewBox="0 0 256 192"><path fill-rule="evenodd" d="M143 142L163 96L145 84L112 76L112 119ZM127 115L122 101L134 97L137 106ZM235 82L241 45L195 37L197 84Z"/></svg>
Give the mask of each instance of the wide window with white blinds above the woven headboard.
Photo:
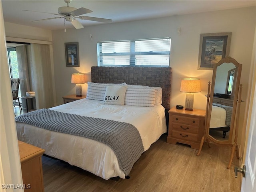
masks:
<svg viewBox="0 0 256 192"><path fill-rule="evenodd" d="M98 66L168 67L170 44L170 37L98 42Z"/></svg>

